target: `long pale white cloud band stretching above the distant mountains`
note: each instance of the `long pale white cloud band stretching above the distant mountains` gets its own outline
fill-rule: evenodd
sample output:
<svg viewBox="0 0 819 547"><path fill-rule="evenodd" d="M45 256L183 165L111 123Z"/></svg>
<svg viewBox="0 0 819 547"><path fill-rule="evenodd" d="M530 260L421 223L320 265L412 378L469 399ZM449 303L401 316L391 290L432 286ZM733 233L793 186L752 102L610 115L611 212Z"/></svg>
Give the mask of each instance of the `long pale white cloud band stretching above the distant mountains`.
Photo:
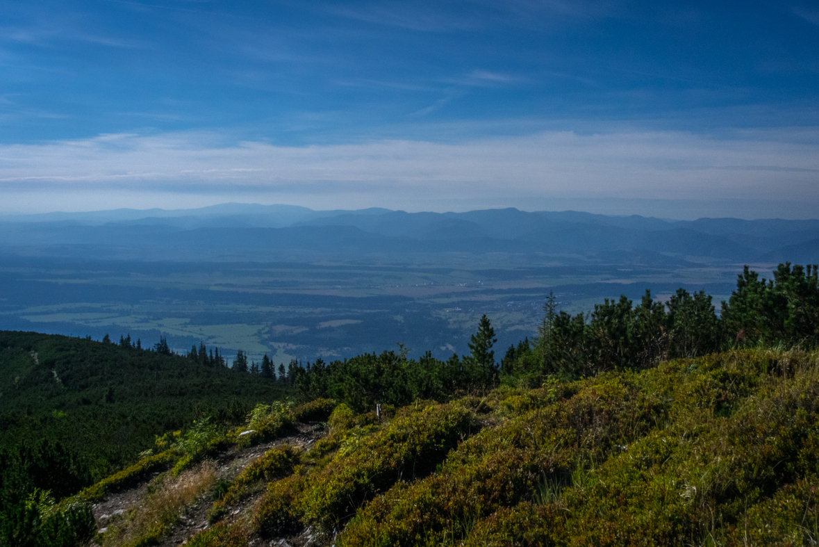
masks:
<svg viewBox="0 0 819 547"><path fill-rule="evenodd" d="M803 133L803 132L802 132ZM0 147L7 191L367 192L388 203L433 192L458 197L551 196L817 202L819 146L691 133L545 132L457 144L382 140L282 147L225 146L210 133L95 138Z"/></svg>

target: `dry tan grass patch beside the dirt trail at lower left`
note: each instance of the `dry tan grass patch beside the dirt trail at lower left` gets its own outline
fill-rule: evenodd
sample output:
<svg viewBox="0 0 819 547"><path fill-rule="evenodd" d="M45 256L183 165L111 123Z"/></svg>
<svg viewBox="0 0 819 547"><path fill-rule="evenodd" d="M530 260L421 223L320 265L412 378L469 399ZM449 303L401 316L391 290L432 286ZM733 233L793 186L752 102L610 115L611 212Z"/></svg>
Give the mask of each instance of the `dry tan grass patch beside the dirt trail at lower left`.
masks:
<svg viewBox="0 0 819 547"><path fill-rule="evenodd" d="M128 518L112 524L106 531L105 547L150 545L165 534L188 504L209 490L216 481L214 463L207 461L179 477L165 476Z"/></svg>

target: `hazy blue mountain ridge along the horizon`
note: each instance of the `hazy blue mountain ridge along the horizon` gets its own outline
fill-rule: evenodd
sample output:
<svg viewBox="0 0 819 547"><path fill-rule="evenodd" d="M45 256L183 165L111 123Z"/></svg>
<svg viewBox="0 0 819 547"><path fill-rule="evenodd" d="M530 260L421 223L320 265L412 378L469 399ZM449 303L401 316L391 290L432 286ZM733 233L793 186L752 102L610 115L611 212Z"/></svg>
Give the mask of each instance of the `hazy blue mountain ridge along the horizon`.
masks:
<svg viewBox="0 0 819 547"><path fill-rule="evenodd" d="M819 262L819 220L667 220L514 208L464 213L310 210L225 203L188 210L120 209L0 217L0 246L145 248L265 255L645 251L726 261ZM57 251L57 250L55 250ZM797 256L798 255L798 256Z"/></svg>

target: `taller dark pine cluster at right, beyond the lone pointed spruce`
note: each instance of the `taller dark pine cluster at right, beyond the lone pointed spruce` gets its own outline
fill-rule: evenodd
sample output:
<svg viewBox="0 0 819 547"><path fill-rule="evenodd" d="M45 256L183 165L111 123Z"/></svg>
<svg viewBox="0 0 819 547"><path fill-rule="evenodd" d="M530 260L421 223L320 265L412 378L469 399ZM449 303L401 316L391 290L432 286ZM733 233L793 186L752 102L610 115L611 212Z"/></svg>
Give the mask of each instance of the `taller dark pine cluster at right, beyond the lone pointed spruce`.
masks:
<svg viewBox="0 0 819 547"><path fill-rule="evenodd" d="M550 295L538 330L535 344L509 348L501 361L505 375L536 383L549 375L648 368L759 343L812 348L819 341L817 267L780 264L766 281L746 266L719 315L711 296L685 289L665 303L646 291L639 305L621 296L576 315L558 312Z"/></svg>

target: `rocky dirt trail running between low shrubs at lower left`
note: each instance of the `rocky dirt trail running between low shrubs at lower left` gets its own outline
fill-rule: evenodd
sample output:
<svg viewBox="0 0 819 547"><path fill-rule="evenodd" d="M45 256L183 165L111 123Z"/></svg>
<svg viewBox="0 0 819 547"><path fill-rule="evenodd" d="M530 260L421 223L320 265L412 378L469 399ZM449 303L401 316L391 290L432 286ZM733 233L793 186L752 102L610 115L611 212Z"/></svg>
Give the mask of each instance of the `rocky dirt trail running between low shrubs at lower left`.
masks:
<svg viewBox="0 0 819 547"><path fill-rule="evenodd" d="M224 454L219 454L213 459L216 468L216 479L226 481L233 480L233 478L242 472L251 462L260 458L265 452L275 446L293 445L307 450L314 441L320 439L325 433L324 431L314 430L314 427L310 425L296 423L291 434L279 437L275 441L269 441L242 450L229 450ZM159 473L156 472L154 476L158 474ZM147 495L147 482L148 481L145 481L129 490L107 495L100 502L94 504L92 511L94 518L97 520L97 527L102 530L111 522L124 518L129 510L138 509L140 505L144 503L145 496ZM249 517L253 504L264 491L264 487L260 487L254 495L234 505L224 520L229 521ZM162 538L159 545L162 547L184 545L191 536L209 527L210 524L207 522L207 513L213 501L210 494L204 494L192 504L188 505L186 510L180 514L179 521L176 522L170 532ZM305 536L305 533L302 533L301 536ZM292 545L292 547L297 547L309 542L309 531L306 537L301 536L292 538L291 540L274 540L270 542L269 545ZM94 547L94 545L96 544L92 544L91 547ZM251 540L251 545L261 545L260 540ZM268 545L268 542L265 542L265 545Z"/></svg>

